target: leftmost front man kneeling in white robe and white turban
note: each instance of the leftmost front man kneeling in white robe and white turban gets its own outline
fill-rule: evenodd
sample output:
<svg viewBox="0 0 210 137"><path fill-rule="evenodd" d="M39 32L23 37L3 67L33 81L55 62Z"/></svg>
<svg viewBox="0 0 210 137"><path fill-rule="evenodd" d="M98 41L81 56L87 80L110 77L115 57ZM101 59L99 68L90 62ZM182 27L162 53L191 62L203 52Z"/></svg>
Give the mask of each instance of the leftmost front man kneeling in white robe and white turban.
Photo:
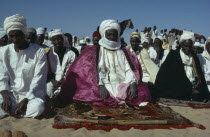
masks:
<svg viewBox="0 0 210 137"><path fill-rule="evenodd" d="M0 117L37 117L44 111L45 51L26 41L26 19L23 16L7 17L4 30L12 43L0 51Z"/></svg>

